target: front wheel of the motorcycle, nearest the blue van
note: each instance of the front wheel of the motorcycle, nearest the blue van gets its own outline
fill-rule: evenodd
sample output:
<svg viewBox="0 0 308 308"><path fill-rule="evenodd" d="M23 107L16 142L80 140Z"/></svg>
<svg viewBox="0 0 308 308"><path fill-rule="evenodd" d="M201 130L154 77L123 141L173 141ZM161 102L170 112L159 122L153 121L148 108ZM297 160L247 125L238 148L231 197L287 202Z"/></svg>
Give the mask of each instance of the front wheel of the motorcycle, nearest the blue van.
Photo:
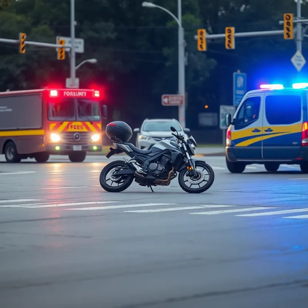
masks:
<svg viewBox="0 0 308 308"><path fill-rule="evenodd" d="M180 187L187 193L203 193L208 190L215 179L215 174L211 166L205 161L196 162L196 176L189 176L187 169L179 172L178 180Z"/></svg>

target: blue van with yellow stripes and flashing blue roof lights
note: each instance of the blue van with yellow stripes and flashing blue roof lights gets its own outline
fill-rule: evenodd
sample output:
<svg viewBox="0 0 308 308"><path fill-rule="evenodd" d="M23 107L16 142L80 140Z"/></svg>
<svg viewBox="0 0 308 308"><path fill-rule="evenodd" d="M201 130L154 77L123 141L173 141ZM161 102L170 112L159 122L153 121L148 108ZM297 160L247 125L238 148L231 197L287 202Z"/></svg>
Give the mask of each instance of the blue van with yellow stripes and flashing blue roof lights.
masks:
<svg viewBox="0 0 308 308"><path fill-rule="evenodd" d="M308 173L308 84L261 85L245 94L233 119L226 116L226 164L241 173L249 164L269 172L299 164Z"/></svg>

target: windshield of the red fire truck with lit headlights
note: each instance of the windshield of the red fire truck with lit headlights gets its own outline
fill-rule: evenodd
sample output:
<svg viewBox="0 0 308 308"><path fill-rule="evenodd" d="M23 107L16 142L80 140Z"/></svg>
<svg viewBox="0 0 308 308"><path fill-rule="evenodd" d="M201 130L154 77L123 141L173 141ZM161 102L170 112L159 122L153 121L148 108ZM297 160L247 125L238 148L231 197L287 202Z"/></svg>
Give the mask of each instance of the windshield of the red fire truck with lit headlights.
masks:
<svg viewBox="0 0 308 308"><path fill-rule="evenodd" d="M52 121L100 121L99 102L88 99L52 99L48 104Z"/></svg>

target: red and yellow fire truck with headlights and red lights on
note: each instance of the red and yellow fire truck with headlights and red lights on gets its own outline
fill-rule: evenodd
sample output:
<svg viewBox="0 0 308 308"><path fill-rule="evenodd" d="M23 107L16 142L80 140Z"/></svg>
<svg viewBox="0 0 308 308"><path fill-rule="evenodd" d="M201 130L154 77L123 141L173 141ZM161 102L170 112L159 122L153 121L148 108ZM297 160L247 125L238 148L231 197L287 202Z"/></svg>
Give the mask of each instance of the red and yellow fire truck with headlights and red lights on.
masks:
<svg viewBox="0 0 308 308"><path fill-rule="evenodd" d="M107 106L89 89L38 89L0 92L0 154L9 163L50 155L82 162L102 151L102 118Z"/></svg>

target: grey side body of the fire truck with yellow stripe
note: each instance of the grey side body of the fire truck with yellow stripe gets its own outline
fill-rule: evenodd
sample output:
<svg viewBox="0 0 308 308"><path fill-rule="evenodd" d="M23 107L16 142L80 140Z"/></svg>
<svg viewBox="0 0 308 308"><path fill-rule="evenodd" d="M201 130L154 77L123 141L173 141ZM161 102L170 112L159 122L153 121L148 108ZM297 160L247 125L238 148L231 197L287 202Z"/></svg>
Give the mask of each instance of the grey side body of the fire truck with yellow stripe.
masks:
<svg viewBox="0 0 308 308"><path fill-rule="evenodd" d="M44 151L42 93L0 96L0 151L13 141L19 154Z"/></svg>

